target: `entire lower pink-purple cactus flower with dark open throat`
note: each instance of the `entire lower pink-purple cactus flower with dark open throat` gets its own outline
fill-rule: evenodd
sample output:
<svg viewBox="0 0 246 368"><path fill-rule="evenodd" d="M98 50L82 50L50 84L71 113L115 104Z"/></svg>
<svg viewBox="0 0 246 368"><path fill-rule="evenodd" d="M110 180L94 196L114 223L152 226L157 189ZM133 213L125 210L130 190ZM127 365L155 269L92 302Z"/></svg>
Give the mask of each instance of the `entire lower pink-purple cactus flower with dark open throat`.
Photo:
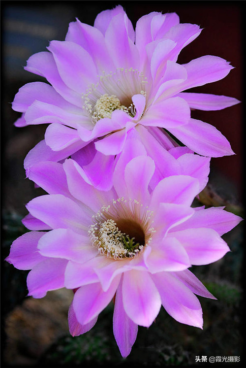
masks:
<svg viewBox="0 0 246 368"><path fill-rule="evenodd" d="M190 156L180 157L188 165ZM197 157L203 167L204 158ZM194 294L214 297L188 268L223 257L229 248L220 236L241 221L221 208L190 207L205 170L197 178L169 175L153 191L155 165L147 155L125 167L118 162L109 191L86 183L80 171L71 159L30 169L31 179L49 194L28 203L24 224L33 231L13 242L7 258L16 268L31 269L29 295L73 289L72 335L89 331L116 296L113 329L123 357L138 325L149 327L161 305L177 321L202 328Z"/></svg>

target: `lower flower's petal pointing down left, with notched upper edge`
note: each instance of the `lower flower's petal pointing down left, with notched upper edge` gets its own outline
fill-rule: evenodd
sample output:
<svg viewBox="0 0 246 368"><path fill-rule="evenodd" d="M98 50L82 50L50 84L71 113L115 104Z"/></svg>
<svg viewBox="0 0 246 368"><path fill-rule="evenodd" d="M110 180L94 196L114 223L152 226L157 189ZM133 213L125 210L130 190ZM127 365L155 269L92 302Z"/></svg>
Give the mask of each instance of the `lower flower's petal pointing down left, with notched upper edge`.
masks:
<svg viewBox="0 0 246 368"><path fill-rule="evenodd" d="M85 285L76 291L73 308L79 323L85 325L91 322L108 305L115 295L120 277L115 277L106 292L103 292L100 283Z"/></svg>

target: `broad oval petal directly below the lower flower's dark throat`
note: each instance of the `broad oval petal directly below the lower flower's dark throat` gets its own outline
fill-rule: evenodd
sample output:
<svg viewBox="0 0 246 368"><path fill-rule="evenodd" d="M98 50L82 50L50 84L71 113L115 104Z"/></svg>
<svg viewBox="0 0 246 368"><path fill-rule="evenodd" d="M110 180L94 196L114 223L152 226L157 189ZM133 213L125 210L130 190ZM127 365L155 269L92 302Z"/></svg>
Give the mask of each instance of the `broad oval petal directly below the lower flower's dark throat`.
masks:
<svg viewBox="0 0 246 368"><path fill-rule="evenodd" d="M134 269L125 272L122 293L128 317L137 325L150 327L159 313L161 300L149 273Z"/></svg>

